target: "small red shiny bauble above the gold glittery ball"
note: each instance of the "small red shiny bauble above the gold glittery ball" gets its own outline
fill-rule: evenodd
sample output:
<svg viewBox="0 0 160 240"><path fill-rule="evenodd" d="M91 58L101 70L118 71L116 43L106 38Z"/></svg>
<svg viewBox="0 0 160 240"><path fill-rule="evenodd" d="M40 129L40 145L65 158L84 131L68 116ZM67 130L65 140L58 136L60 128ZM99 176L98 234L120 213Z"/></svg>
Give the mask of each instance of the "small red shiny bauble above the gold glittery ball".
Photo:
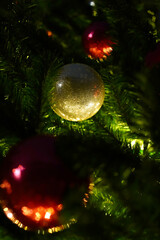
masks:
<svg viewBox="0 0 160 240"><path fill-rule="evenodd" d="M89 57L106 59L111 54L115 43L108 35L108 30L106 22L94 22L85 30L82 42Z"/></svg>

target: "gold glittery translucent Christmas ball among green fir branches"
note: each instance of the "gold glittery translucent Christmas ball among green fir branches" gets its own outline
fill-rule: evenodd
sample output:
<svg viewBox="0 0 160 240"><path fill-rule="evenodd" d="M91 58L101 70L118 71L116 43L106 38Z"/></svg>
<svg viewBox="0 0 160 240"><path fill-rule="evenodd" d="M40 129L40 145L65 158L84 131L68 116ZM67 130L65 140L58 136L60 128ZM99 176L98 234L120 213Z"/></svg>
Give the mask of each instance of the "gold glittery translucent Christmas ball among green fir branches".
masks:
<svg viewBox="0 0 160 240"><path fill-rule="evenodd" d="M83 121L99 111L104 96L100 75L85 64L73 63L60 68L53 79L49 100L58 116L69 121Z"/></svg>

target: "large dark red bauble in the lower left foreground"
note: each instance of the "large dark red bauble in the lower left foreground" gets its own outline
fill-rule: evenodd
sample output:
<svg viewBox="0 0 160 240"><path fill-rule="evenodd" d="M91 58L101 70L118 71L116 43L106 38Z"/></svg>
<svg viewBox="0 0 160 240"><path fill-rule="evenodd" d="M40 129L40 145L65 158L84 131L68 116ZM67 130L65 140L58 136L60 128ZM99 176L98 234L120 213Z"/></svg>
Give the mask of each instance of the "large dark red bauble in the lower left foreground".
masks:
<svg viewBox="0 0 160 240"><path fill-rule="evenodd" d="M75 207L78 195L83 197L88 183L77 178L57 156L54 137L27 139L13 147L4 160L0 203L12 222L25 230L49 233L75 222L72 213L65 213L69 205Z"/></svg>

